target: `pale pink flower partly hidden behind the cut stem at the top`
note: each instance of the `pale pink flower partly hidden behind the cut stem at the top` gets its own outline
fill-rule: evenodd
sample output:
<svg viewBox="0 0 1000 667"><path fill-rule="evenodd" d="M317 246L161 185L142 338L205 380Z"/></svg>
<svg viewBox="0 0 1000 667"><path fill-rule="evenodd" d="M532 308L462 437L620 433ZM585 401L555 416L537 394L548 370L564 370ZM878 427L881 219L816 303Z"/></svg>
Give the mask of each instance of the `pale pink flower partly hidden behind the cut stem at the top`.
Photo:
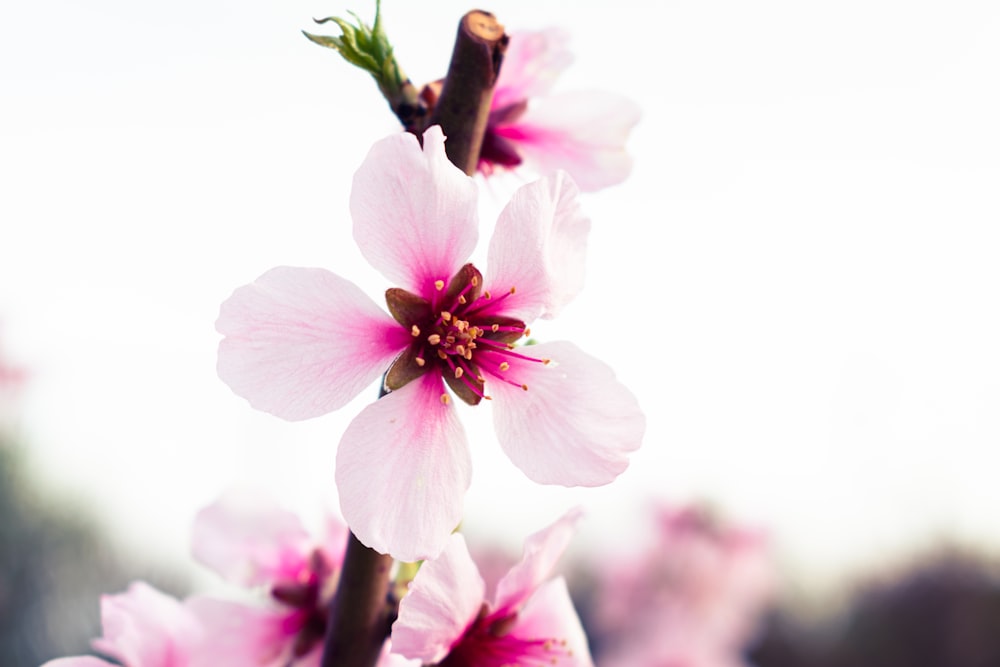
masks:
<svg viewBox="0 0 1000 667"><path fill-rule="evenodd" d="M530 164L565 169L585 191L625 180L632 160L625 142L639 122L630 100L607 92L548 95L572 61L559 30L515 33L500 68L479 170Z"/></svg>

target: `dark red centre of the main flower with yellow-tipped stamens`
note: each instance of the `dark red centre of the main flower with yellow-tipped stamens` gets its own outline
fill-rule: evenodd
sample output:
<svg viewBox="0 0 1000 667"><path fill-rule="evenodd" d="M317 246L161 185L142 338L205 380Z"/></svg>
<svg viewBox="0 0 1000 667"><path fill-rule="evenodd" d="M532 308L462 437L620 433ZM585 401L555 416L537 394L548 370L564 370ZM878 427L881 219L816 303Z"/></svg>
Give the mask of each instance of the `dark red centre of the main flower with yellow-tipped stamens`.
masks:
<svg viewBox="0 0 1000 667"><path fill-rule="evenodd" d="M524 322L503 314L506 299L516 289L493 295L482 289L482 281L479 270L466 264L448 285L438 280L430 299L399 288L386 292L389 312L413 339L386 374L390 390L430 370L440 372L455 395L470 405L490 398L487 378L528 388L510 377L512 362L548 360L515 351L514 342L531 333ZM448 395L441 400L447 403Z"/></svg>

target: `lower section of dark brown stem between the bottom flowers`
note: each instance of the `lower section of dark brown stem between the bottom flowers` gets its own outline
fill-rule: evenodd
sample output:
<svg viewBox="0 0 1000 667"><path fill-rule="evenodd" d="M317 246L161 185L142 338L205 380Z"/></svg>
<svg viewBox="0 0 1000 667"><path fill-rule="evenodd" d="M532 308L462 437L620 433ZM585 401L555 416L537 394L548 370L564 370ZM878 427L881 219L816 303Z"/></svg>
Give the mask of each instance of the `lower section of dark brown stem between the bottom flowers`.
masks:
<svg viewBox="0 0 1000 667"><path fill-rule="evenodd" d="M395 619L389 594L392 558L351 533L337 592L330 602L322 667L374 667Z"/></svg>

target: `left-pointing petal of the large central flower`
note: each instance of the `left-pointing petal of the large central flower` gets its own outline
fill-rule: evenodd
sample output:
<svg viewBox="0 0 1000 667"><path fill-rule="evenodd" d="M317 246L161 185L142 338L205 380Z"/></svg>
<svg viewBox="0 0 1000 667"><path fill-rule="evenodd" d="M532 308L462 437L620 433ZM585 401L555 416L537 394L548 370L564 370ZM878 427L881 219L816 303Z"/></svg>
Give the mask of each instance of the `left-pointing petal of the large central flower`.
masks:
<svg viewBox="0 0 1000 667"><path fill-rule="evenodd" d="M343 407L381 375L409 333L354 283L279 267L222 304L219 377L258 410L297 421Z"/></svg>

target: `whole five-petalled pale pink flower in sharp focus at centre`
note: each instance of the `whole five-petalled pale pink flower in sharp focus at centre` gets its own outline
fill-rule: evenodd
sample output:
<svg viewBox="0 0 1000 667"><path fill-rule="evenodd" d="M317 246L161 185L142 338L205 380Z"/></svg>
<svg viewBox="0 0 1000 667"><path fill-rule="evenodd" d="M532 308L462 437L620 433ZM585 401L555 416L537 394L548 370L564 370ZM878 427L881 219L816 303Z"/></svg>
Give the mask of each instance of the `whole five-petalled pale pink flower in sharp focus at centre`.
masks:
<svg viewBox="0 0 1000 667"><path fill-rule="evenodd" d="M362 543L433 558L462 516L471 479L454 395L492 399L501 447L540 483L607 484L639 446L645 418L602 362L567 342L514 347L582 287L589 221L557 173L515 193L485 276L475 181L432 127L378 142L355 174L354 238L390 281L391 315L323 269L272 269L237 289L216 327L220 377L261 410L308 419L336 410L388 368L337 451L341 511ZM447 389L446 389L447 386ZM450 393L449 391L450 390Z"/></svg>

